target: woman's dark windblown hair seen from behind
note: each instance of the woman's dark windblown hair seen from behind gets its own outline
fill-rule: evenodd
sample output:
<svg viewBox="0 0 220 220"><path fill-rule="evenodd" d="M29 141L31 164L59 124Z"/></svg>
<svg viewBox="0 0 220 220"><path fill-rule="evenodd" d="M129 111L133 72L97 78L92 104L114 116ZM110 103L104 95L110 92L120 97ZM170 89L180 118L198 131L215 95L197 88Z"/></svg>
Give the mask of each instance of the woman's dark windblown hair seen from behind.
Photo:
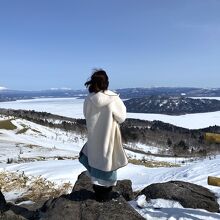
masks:
<svg viewBox="0 0 220 220"><path fill-rule="evenodd" d="M102 69L94 70L91 78L84 84L89 87L89 92L100 92L108 89L109 81L106 72Z"/></svg>

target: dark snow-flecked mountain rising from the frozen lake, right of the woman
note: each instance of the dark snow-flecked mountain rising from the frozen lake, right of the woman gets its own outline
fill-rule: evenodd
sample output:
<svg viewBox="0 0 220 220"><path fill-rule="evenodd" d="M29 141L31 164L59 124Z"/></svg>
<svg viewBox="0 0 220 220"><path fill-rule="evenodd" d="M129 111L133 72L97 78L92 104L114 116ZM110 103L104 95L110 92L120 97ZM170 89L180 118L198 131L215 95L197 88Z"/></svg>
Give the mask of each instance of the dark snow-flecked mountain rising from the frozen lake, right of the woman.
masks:
<svg viewBox="0 0 220 220"><path fill-rule="evenodd" d="M181 96L147 96L124 101L127 111L134 113L157 113L182 115L220 111L216 99L192 99Z"/></svg>

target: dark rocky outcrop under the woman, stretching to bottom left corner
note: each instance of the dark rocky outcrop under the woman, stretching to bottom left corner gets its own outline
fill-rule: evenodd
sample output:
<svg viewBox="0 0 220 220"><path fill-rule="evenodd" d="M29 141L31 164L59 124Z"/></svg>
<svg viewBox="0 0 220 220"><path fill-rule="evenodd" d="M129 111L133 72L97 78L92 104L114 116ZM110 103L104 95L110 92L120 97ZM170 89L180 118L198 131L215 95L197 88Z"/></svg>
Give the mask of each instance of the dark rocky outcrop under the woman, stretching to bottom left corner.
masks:
<svg viewBox="0 0 220 220"><path fill-rule="evenodd" d="M3 207L1 209L3 213L0 214L0 220L144 219L126 201L133 198L130 180L118 181L113 191L112 200L108 202L97 202L90 179L83 172L79 175L70 194L49 199L41 208L34 211L17 205L7 204L4 196L0 194L0 204Z"/></svg>

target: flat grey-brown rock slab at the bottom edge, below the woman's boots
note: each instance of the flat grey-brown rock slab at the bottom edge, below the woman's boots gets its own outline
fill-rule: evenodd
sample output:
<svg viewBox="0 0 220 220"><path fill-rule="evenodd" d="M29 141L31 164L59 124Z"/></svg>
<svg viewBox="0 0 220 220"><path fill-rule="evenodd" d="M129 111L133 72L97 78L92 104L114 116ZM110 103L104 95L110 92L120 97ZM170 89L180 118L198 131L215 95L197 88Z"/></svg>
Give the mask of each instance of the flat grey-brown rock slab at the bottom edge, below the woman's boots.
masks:
<svg viewBox="0 0 220 220"><path fill-rule="evenodd" d="M82 192L85 193L84 191ZM77 193L78 197L80 192ZM74 201L74 196L62 196L47 201L41 209L41 220L141 220L142 218L131 206L120 197L105 203L99 203L92 198Z"/></svg>

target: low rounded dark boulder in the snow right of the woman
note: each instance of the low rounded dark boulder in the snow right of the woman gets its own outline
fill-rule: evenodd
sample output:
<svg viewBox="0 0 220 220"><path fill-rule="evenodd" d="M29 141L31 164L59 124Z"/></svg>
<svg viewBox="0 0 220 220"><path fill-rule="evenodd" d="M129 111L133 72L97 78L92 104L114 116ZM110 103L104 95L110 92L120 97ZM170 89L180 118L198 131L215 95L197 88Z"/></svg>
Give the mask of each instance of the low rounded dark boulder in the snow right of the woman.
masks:
<svg viewBox="0 0 220 220"><path fill-rule="evenodd" d="M219 204L214 193L203 186L188 182L169 181L151 184L139 193L141 194L146 196L146 200L157 198L175 200L184 208L219 212Z"/></svg>

